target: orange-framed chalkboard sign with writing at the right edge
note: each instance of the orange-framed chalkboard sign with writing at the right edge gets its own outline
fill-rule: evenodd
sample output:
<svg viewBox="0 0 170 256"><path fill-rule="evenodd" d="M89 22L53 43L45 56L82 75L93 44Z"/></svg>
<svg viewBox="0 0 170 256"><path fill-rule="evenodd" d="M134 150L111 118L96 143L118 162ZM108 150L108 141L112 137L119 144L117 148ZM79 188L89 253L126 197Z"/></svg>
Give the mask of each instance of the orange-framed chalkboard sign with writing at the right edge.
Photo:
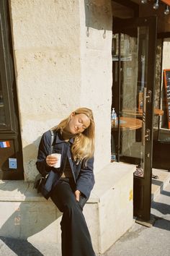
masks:
<svg viewBox="0 0 170 256"><path fill-rule="evenodd" d="M165 85L165 94L166 94L168 126L170 129L170 69L164 69L164 85Z"/></svg>

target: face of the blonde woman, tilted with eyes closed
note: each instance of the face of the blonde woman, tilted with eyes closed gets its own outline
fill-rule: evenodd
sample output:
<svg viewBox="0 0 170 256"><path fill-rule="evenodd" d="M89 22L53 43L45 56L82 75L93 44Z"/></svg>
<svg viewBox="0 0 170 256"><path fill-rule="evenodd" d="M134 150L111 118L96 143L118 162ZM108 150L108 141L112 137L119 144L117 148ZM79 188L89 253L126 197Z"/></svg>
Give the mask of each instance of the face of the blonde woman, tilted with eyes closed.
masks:
<svg viewBox="0 0 170 256"><path fill-rule="evenodd" d="M89 127L90 119L86 114L71 114L71 119L66 126L66 131L73 135L84 132Z"/></svg>

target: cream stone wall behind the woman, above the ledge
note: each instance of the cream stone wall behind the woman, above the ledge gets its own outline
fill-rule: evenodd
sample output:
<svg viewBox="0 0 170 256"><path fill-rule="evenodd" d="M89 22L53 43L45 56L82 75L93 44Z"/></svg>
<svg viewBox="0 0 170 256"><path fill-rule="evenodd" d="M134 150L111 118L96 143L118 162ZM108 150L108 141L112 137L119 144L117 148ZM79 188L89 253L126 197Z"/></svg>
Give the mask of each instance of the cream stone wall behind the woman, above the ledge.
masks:
<svg viewBox="0 0 170 256"><path fill-rule="evenodd" d="M111 2L11 0L9 7L25 180L37 173L42 133L80 106L94 111L101 170L110 160Z"/></svg>

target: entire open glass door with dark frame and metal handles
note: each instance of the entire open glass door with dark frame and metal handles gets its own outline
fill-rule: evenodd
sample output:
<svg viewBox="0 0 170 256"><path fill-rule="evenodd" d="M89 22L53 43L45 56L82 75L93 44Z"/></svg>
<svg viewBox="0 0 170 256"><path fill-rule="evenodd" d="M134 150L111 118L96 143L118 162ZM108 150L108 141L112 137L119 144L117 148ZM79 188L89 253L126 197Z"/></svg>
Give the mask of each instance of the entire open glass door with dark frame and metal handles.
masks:
<svg viewBox="0 0 170 256"><path fill-rule="evenodd" d="M156 18L113 20L112 151L133 163L134 216L148 220L151 210L153 88Z"/></svg>

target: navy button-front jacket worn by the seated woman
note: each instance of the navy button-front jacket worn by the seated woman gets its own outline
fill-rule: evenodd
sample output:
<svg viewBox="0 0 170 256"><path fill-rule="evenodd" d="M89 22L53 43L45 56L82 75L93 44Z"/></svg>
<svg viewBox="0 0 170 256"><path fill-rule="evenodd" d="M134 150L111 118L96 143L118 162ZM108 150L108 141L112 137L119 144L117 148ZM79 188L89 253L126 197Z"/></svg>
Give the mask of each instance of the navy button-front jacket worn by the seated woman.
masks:
<svg viewBox="0 0 170 256"><path fill-rule="evenodd" d="M37 155L37 170L42 176L48 175L47 182L42 187L42 195L48 199L50 197L51 189L58 183L61 178L63 170L66 166L66 160L71 166L73 179L76 183L76 189L81 191L86 198L89 198L91 189L94 187L94 158L87 161L86 166L83 163L76 163L71 157L71 145L73 138L68 142L62 139L60 132L55 132L53 140L53 153L61 153L61 167L53 168L47 165L45 159L50 155L51 134L50 131L45 132L40 140L40 145Z"/></svg>

